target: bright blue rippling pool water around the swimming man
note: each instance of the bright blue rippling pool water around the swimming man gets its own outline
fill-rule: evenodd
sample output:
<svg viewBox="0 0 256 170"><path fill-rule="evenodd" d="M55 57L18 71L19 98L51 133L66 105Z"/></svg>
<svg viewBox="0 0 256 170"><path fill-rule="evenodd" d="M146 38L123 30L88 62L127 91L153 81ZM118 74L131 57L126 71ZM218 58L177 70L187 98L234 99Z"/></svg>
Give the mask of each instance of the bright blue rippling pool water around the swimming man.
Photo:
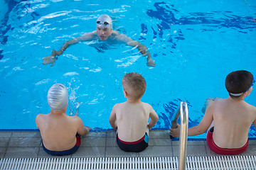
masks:
<svg viewBox="0 0 256 170"><path fill-rule="evenodd" d="M0 0L0 129L36 129L38 113L49 113L47 92L68 87L67 114L94 130L109 130L110 112L124 102L122 77L146 79L142 101L159 115L154 129L167 130L181 101L188 103L189 127L203 118L208 97L228 97L225 77L246 69L256 75L256 1L3 1ZM139 40L156 67L126 45L81 42L55 66L42 58L64 42L95 30L106 13L114 30ZM245 98L256 106L255 90ZM250 137L255 137L251 128ZM198 136L206 137L206 134Z"/></svg>

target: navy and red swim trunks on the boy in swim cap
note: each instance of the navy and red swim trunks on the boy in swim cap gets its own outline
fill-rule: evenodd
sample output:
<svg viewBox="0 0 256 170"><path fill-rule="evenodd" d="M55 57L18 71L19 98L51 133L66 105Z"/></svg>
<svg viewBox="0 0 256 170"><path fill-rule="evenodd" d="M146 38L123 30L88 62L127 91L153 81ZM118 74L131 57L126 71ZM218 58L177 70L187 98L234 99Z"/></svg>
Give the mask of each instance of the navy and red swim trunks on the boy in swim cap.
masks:
<svg viewBox="0 0 256 170"><path fill-rule="evenodd" d="M53 156L65 156L65 155L68 155L68 154L73 154L75 153L78 148L80 147L81 145L81 137L80 135L75 135L76 136L76 140L77 142L75 143L75 146L71 149L68 149L68 150L65 150L65 151L51 151L49 149L46 149L46 147L43 145L43 141L42 141L42 146L43 146L43 150L48 153L48 154L51 154Z"/></svg>

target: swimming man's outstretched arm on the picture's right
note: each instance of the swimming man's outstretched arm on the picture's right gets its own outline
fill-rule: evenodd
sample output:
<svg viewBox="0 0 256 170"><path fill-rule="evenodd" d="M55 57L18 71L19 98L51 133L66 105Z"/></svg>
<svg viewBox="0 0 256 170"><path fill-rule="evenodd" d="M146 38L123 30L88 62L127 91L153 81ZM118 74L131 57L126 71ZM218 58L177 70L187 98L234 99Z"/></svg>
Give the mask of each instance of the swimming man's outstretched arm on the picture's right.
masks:
<svg viewBox="0 0 256 170"><path fill-rule="evenodd" d="M126 43L129 46L137 47L139 52L142 53L143 56L146 56L146 55L148 56L147 59L146 59L147 60L146 64L149 67L155 67L156 66L156 64L154 63L154 60L151 60L150 52L149 52L148 48L145 45L143 45L142 43L140 43L136 40L132 40L132 38L129 38L129 37L127 37L127 35L124 35L124 34L119 34L117 36L117 39L119 41L122 41L122 42Z"/></svg>

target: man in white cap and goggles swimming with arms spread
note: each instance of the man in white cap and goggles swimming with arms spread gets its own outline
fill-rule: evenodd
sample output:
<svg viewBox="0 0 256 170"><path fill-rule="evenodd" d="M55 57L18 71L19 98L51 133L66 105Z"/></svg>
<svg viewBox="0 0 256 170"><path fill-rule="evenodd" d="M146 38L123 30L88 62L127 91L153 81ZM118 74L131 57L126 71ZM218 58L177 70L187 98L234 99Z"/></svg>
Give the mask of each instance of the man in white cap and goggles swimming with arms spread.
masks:
<svg viewBox="0 0 256 170"><path fill-rule="evenodd" d="M59 51L53 50L50 56L43 57L43 64L52 64L51 66L53 66L55 64L55 60L57 60L57 56L62 55L70 45L74 45L82 41L92 40L101 40L110 44L124 43L129 46L137 47L142 55L147 56L147 66L155 67L156 65L154 60L151 60L150 52L145 45L142 45L140 42L127 37L127 35L118 33L112 29L112 19L108 15L101 15L99 18L97 18L95 31L92 31L91 33L85 33L78 38L69 40L65 42Z"/></svg>

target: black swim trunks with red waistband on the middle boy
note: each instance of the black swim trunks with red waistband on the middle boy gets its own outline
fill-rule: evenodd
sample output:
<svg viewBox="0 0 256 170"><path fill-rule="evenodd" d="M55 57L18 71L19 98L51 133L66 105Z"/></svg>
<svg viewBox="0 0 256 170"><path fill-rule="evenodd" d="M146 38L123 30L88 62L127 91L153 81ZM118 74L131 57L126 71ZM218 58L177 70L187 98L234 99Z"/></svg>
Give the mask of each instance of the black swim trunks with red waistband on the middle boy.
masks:
<svg viewBox="0 0 256 170"><path fill-rule="evenodd" d="M117 134L117 145L125 152L142 152L149 146L149 136L145 133L142 139L135 142L125 142L119 139Z"/></svg>

